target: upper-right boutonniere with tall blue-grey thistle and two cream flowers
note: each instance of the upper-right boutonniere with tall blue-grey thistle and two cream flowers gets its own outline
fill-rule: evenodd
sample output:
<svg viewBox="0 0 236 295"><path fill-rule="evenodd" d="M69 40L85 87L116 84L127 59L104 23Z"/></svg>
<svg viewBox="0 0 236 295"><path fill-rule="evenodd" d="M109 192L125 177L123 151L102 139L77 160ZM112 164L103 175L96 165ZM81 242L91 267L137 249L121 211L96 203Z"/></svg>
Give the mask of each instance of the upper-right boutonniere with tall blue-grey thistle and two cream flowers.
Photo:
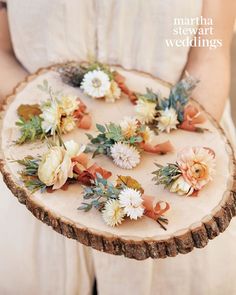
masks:
<svg viewBox="0 0 236 295"><path fill-rule="evenodd" d="M156 133L169 133L177 128L203 132L198 124L203 123L205 117L197 107L189 104L190 95L198 82L187 76L171 88L167 98L151 89L147 89L146 94L136 94L137 118Z"/></svg>

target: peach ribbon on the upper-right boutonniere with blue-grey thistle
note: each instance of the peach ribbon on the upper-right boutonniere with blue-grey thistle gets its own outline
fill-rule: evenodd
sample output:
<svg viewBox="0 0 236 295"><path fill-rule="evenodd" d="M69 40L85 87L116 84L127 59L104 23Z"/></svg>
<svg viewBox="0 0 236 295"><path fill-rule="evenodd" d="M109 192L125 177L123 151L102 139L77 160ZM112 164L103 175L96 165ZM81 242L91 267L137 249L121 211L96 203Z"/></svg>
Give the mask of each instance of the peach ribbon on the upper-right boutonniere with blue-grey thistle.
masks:
<svg viewBox="0 0 236 295"><path fill-rule="evenodd" d="M184 110L184 121L178 127L187 131L196 131L196 124L201 124L205 121L204 114L197 107L188 105Z"/></svg>

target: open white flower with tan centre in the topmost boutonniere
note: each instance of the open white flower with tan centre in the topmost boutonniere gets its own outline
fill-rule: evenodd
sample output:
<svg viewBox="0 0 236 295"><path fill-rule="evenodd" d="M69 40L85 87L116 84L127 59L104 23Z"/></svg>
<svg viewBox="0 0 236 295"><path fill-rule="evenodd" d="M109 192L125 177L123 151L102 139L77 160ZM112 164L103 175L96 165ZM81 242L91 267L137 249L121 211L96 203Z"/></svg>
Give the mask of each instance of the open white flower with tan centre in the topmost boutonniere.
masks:
<svg viewBox="0 0 236 295"><path fill-rule="evenodd" d="M91 97L99 98L106 95L110 89L110 80L106 73L100 70L89 71L84 75L81 89Z"/></svg>

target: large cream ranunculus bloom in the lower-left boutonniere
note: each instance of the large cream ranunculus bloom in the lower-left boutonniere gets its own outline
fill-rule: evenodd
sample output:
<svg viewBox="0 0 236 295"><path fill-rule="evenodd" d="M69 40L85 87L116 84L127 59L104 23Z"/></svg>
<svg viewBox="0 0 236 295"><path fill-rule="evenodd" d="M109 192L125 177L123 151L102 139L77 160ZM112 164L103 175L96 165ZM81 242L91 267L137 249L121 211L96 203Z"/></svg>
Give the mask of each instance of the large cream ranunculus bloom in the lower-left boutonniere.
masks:
<svg viewBox="0 0 236 295"><path fill-rule="evenodd" d="M53 189L61 188L73 177L71 157L62 147L52 147L42 158L38 168L39 179Z"/></svg>

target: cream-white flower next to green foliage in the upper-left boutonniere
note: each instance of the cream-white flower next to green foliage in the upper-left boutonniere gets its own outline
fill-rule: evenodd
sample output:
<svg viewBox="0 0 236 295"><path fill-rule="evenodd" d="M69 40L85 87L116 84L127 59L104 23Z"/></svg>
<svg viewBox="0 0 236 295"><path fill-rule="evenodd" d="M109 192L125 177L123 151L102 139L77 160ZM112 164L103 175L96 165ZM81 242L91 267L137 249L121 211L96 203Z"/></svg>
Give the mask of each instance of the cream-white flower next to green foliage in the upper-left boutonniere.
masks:
<svg viewBox="0 0 236 295"><path fill-rule="evenodd" d="M50 104L45 103L41 107L42 114L40 117L42 121L42 129L45 133L49 132L53 134L57 127L60 125L61 112L58 103L55 101Z"/></svg>

